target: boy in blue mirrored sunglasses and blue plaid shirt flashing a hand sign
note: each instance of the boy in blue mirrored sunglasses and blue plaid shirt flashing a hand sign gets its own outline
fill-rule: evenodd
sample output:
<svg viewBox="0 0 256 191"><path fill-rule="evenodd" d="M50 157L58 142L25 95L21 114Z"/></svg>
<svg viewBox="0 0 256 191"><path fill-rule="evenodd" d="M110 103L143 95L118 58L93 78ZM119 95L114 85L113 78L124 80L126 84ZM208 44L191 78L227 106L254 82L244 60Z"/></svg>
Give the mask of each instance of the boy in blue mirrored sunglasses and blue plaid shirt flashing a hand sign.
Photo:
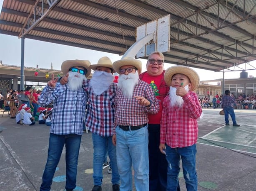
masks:
<svg viewBox="0 0 256 191"><path fill-rule="evenodd" d="M50 191L53 176L65 144L66 148L66 191L76 187L78 154L83 134L83 118L87 95L82 85L90 75L90 61L67 60L61 65L64 74L69 73L68 83L61 85L57 79L47 83L38 103L42 106L53 102L52 124L48 158L43 173L40 191Z"/></svg>

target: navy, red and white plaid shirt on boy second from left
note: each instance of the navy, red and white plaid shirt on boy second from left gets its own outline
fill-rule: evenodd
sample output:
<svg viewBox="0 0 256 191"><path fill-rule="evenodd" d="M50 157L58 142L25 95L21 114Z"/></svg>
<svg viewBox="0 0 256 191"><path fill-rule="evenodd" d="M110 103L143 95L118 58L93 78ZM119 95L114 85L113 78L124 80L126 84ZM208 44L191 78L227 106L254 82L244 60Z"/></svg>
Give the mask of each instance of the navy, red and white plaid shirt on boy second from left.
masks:
<svg viewBox="0 0 256 191"><path fill-rule="evenodd" d="M85 87L88 93L85 125L91 132L101 136L113 135L116 89L116 84L111 83L108 91L96 96L92 88Z"/></svg>

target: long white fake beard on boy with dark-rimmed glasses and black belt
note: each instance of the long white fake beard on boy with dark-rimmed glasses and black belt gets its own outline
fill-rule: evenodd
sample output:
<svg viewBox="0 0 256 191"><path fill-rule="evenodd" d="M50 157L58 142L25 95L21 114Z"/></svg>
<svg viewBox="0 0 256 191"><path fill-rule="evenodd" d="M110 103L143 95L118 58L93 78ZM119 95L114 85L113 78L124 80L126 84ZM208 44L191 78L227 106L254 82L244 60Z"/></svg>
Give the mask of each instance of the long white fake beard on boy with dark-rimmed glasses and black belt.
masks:
<svg viewBox="0 0 256 191"><path fill-rule="evenodd" d="M139 82L138 71L136 73L128 73L128 75L120 75L118 79L117 86L120 87L123 91L125 98L133 97L133 89L136 84Z"/></svg>

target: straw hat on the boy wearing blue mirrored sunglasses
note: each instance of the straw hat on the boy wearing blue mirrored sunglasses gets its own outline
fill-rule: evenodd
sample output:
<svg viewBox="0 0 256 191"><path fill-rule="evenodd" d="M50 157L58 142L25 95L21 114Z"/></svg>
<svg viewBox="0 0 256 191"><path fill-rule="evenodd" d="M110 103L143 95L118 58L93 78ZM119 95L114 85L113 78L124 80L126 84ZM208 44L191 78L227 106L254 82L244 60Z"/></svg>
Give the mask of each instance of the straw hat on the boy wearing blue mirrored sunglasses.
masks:
<svg viewBox="0 0 256 191"><path fill-rule="evenodd" d="M90 61L88 60L66 60L61 64L61 71L65 75L68 73L69 69L74 66L81 66L87 70L85 74L86 77L90 76L91 69L90 69Z"/></svg>

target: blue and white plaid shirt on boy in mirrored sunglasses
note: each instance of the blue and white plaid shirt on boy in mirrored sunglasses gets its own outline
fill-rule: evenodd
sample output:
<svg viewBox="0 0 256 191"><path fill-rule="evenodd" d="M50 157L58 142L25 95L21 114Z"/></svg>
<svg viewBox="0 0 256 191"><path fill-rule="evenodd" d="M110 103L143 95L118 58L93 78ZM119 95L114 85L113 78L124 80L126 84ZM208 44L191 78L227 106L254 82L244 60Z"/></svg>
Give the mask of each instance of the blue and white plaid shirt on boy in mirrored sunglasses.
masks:
<svg viewBox="0 0 256 191"><path fill-rule="evenodd" d="M83 88L79 91L71 91L60 83L57 83L55 88L46 86L38 98L38 103L45 106L52 102L50 132L57 135L82 135L87 102L87 94Z"/></svg>

